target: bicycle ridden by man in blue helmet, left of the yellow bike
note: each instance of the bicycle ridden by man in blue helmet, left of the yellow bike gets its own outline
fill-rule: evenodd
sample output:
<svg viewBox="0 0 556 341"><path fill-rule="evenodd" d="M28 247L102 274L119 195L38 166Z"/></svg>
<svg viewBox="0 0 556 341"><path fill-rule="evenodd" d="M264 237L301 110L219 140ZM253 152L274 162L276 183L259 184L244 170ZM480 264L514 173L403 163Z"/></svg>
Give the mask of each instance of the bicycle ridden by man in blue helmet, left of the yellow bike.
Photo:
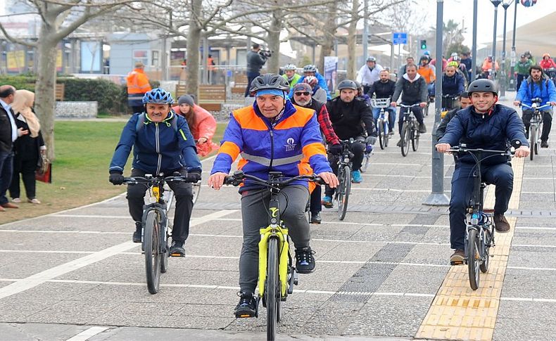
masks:
<svg viewBox="0 0 556 341"><path fill-rule="evenodd" d="M151 294L156 294L160 288L160 273L168 271L168 257L182 257L169 255L168 236L172 231L168 213L174 201L174 192L165 189L170 182L187 181L187 176L132 176L124 178L124 184L147 186L151 195L151 203L144 206L141 219L141 250L145 254L146 285Z"/></svg>

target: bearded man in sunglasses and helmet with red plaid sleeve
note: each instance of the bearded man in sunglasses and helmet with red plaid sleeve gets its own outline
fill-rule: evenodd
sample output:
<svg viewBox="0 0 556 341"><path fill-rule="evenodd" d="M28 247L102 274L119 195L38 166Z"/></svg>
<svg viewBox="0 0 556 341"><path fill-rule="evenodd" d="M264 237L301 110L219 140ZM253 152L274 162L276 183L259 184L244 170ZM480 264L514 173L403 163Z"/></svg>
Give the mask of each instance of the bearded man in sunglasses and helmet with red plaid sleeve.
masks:
<svg viewBox="0 0 556 341"><path fill-rule="evenodd" d="M298 83L293 86L293 98L291 103L303 108L310 108L317 113L317 121L319 122L321 135L324 135L323 142L328 144L328 151L332 155L341 153L342 147L328 116L327 106L324 103L312 98L312 89L308 83ZM320 211L322 204L320 202L321 187L316 186L311 193L311 224L320 224Z"/></svg>

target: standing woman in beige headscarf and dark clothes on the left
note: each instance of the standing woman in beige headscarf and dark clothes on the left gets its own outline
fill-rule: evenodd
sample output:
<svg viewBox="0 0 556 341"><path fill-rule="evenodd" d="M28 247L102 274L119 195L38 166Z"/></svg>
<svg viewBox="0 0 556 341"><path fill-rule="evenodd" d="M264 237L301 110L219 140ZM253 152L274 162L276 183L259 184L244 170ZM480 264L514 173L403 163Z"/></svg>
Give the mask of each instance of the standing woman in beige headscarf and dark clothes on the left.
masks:
<svg viewBox="0 0 556 341"><path fill-rule="evenodd" d="M15 124L18 128L28 129L29 134L18 137L13 145L13 177L10 185L10 196L13 202L21 202L20 199L20 176L23 178L27 202L40 204L35 198L36 183L34 171L41 158L46 152L44 140L41 134L41 124L32 110L34 94L28 90L17 90L13 97L11 108L15 112Z"/></svg>

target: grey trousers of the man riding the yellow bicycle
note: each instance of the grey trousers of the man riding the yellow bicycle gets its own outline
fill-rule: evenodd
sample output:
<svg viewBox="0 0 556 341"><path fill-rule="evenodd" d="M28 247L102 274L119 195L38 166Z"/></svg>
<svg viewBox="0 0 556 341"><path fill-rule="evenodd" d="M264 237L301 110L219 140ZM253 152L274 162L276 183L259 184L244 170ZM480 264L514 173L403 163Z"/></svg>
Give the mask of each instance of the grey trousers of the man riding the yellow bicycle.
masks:
<svg viewBox="0 0 556 341"><path fill-rule="evenodd" d="M280 191L279 207L293 245L308 247L310 227L305 217L309 191L305 186L287 186ZM258 280L259 229L268 226L270 192L267 189L241 193L241 220L244 225L244 245L239 257L239 287L241 292L255 292Z"/></svg>

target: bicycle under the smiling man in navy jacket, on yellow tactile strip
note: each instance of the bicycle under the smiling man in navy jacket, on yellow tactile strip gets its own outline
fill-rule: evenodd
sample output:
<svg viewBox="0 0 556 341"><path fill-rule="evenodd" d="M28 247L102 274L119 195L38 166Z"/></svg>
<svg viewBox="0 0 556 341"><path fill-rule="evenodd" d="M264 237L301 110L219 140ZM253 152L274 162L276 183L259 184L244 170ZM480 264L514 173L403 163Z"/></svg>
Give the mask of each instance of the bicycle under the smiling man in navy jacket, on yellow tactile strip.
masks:
<svg viewBox="0 0 556 341"><path fill-rule="evenodd" d="M517 145L519 141L514 141ZM468 153L475 160L475 169L473 176L473 193L469 199L469 204L465 210L465 260L469 271L469 285L473 290L479 288L479 270L483 273L488 271L491 255L489 253L494 243L494 222L493 210L485 210L484 205L484 188L488 184L481 177L481 162L488 157L507 155L511 156L513 152L509 150L489 150L489 149L471 149L467 148L465 143L455 146L448 150L451 153ZM483 157L483 153L488 153ZM462 263L452 263L452 265L460 265Z"/></svg>

